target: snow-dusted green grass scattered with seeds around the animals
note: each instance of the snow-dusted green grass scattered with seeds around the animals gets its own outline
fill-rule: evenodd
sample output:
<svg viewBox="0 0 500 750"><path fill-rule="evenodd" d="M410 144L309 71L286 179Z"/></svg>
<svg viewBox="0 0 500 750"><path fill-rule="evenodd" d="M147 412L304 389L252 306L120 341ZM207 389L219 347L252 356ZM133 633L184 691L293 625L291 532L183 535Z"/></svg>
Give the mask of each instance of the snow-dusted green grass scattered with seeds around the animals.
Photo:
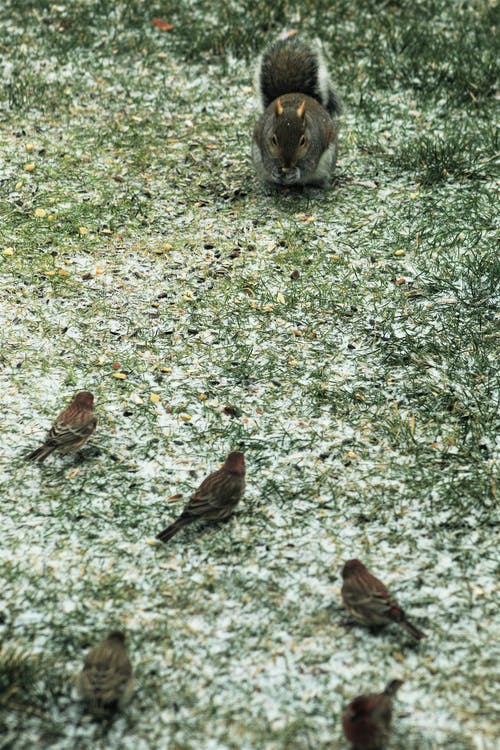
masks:
<svg viewBox="0 0 500 750"><path fill-rule="evenodd" d="M340 750L392 677L392 750L495 747L496 13L4 4L0 748ZM346 114L332 187L270 197L250 86L284 27ZM83 388L91 445L23 462ZM152 544L237 448L234 519ZM355 556L418 649L342 624ZM115 627L138 686L100 724L72 681Z"/></svg>

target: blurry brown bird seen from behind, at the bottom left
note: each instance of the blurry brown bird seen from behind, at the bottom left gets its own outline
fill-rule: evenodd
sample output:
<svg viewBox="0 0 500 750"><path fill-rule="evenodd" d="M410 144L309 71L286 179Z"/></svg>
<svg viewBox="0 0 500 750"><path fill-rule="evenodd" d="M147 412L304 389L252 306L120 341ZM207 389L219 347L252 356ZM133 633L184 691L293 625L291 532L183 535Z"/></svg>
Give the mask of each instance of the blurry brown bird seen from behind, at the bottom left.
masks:
<svg viewBox="0 0 500 750"><path fill-rule="evenodd" d="M78 675L77 688L95 716L123 708L129 702L134 680L124 633L113 630L90 649Z"/></svg>

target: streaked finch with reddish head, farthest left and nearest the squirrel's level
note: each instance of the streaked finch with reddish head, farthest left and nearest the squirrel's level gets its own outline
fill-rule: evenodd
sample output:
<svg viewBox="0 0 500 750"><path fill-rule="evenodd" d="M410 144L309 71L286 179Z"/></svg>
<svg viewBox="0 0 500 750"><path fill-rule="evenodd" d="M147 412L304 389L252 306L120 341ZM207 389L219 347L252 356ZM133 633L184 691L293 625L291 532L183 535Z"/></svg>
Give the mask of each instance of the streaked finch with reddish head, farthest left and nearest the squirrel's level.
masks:
<svg viewBox="0 0 500 750"><path fill-rule="evenodd" d="M45 461L52 451L76 451L87 442L94 432L97 419L94 417L94 397L88 391L77 393L70 405L62 411L50 428L45 442L29 455L26 461Z"/></svg>

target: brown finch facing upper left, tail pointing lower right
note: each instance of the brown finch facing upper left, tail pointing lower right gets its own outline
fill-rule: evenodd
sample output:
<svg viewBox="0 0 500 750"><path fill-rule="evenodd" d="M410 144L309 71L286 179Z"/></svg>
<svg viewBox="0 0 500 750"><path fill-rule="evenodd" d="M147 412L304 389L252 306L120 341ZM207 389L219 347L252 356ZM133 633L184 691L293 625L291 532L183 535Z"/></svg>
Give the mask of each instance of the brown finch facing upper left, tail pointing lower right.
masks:
<svg viewBox="0 0 500 750"><path fill-rule="evenodd" d="M359 560L349 560L342 570L342 599L355 620L368 627L397 622L417 640L425 633L408 622L406 615L386 589Z"/></svg>

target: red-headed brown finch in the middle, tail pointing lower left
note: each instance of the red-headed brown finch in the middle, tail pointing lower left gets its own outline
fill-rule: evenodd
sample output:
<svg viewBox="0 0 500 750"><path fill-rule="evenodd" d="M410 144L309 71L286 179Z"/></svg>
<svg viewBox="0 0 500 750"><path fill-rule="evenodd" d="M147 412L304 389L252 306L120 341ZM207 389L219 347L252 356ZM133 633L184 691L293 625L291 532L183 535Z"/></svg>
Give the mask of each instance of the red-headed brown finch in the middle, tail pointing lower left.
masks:
<svg viewBox="0 0 500 750"><path fill-rule="evenodd" d="M156 538L166 542L184 526L198 519L223 521L229 518L244 491L245 457L240 451L233 451L218 471L203 480L177 521L167 526Z"/></svg>

